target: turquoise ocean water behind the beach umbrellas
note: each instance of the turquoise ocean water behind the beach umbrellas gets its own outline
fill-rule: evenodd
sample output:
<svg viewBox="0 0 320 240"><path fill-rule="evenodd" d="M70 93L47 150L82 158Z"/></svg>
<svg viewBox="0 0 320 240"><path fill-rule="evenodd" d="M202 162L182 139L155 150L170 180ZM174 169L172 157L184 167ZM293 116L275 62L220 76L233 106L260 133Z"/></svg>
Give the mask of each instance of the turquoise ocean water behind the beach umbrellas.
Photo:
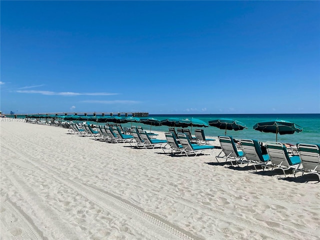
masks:
<svg viewBox="0 0 320 240"><path fill-rule="evenodd" d="M269 121L269 120L288 120L292 121L303 128L301 132L295 132L293 134L279 135L278 141L289 143L320 143L320 114L179 114L179 115L155 115L150 114L149 117L154 117L158 120L162 120L169 117L181 117L191 118L195 117L204 122L217 118L231 118L243 122L247 129L234 131L227 130L226 134L231 135L233 138L251 138L258 141L275 141L274 133L265 133L253 129L253 125L257 122ZM141 117L142 118L142 117ZM150 126L142 123L132 123L133 125L141 125L143 129L149 130ZM131 123L122 123L123 126L130 127ZM190 128L190 127L189 127ZM192 128L192 134L194 134ZM167 131L167 126L151 126L151 130ZM221 130L214 126L203 127L205 135L218 136L224 135L224 130Z"/></svg>

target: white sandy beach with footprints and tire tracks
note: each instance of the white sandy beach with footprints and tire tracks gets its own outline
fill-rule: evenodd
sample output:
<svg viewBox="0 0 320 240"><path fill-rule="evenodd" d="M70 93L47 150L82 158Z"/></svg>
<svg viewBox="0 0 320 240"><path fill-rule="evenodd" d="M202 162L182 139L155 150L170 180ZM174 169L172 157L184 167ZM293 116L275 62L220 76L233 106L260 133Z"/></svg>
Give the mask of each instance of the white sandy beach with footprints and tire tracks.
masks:
<svg viewBox="0 0 320 240"><path fill-rule="evenodd" d="M320 239L316 176L22 121L0 121L0 140L1 239Z"/></svg>

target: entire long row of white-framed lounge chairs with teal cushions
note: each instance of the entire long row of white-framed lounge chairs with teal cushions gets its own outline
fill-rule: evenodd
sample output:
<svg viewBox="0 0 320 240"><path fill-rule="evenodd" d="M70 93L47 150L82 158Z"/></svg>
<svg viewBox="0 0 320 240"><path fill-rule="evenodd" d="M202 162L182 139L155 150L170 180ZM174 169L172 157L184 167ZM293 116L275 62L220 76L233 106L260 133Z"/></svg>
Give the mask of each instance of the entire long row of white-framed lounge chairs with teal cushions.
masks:
<svg viewBox="0 0 320 240"><path fill-rule="evenodd" d="M81 136L93 136L94 138L107 142L128 142L131 147L155 148L160 147L164 153L172 155L197 155L205 150L221 148L216 160L224 159L230 161L231 165L246 164L253 165L255 171L257 166L262 170L267 168L281 169L284 176L286 170L292 169L296 172L316 174L320 181L320 144L298 143L297 152L289 153L288 149L280 142L267 141L266 151L263 151L261 144L254 139L240 139L239 144L234 142L231 136L218 136L220 147L208 144L214 139L206 138L202 129L195 129L195 137L188 129L169 128L165 132L165 140L156 139L156 133L147 133L141 126L132 126L131 129L123 129L118 125L96 125L92 128L89 124L77 124L73 122L59 123L57 126L69 127L68 132ZM130 133L130 134L129 134ZM210 154L211 154L210 153Z"/></svg>

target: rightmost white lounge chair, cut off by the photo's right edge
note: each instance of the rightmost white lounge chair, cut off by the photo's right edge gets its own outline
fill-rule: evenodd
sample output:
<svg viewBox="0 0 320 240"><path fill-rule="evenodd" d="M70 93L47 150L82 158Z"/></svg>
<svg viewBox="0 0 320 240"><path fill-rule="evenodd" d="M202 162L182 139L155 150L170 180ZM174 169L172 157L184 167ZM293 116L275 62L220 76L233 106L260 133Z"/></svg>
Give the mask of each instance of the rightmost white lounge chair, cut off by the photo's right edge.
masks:
<svg viewBox="0 0 320 240"><path fill-rule="evenodd" d="M298 143L297 148L301 163L297 169L293 169L295 176L296 171L308 174L316 174L320 181L320 144Z"/></svg>

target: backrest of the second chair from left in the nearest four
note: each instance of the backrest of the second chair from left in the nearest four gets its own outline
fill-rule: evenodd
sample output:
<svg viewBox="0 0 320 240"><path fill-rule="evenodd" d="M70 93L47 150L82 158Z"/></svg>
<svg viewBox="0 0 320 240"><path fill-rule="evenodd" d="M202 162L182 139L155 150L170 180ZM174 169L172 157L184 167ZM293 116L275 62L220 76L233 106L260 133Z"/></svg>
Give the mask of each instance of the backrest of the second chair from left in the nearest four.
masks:
<svg viewBox="0 0 320 240"><path fill-rule="evenodd" d="M244 156L248 160L264 162L262 151L257 140L254 139L241 139L241 148Z"/></svg>

